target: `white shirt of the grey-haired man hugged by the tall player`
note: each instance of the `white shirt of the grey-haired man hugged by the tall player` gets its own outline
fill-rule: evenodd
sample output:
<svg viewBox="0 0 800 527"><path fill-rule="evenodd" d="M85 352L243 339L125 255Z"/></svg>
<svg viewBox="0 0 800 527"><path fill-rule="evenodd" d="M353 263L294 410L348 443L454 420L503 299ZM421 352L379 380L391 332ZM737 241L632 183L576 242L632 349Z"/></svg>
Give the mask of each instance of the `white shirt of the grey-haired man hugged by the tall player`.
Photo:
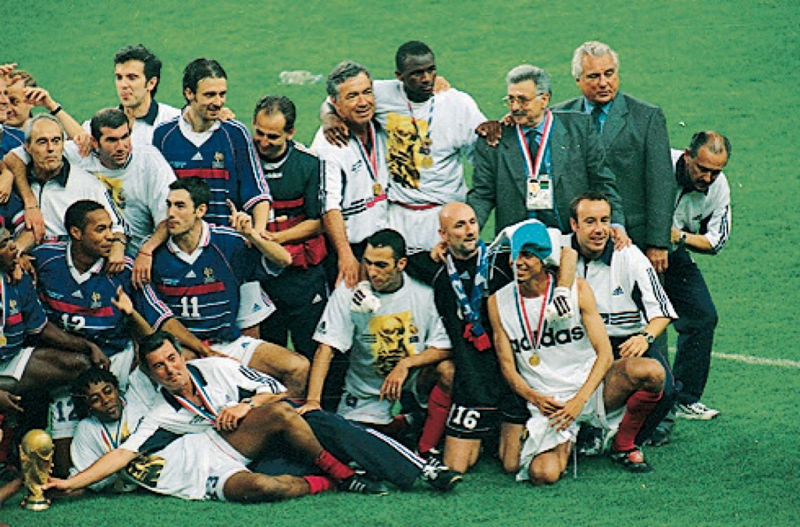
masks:
<svg viewBox="0 0 800 527"><path fill-rule="evenodd" d="M347 240L358 244L387 226L386 187L389 185L389 168L386 164L386 134L375 126L374 147L378 160L378 184L381 192L374 192L369 160L362 155L355 137L347 146L331 145L318 129L311 150L323 160L322 191L325 196L324 211L342 212Z"/></svg>

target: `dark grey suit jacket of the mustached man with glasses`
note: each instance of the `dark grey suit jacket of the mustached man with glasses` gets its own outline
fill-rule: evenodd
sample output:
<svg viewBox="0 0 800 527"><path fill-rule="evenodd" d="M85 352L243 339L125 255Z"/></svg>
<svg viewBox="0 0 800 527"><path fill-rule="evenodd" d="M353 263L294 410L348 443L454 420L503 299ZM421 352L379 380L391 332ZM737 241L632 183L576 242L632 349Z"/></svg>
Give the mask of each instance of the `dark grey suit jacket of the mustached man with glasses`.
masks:
<svg viewBox="0 0 800 527"><path fill-rule="evenodd" d="M542 220L550 227L570 232L570 201L587 190L606 195L612 208L612 221L624 224L614 174L602 163L602 147L591 117L579 112L553 112L550 133L550 164L552 169L554 204L560 225L554 217ZM502 137L496 147L478 138L474 153L472 190L466 202L475 209L478 224L485 225L490 213L497 208L496 233L527 218L525 160L519 149L517 129L502 127Z"/></svg>

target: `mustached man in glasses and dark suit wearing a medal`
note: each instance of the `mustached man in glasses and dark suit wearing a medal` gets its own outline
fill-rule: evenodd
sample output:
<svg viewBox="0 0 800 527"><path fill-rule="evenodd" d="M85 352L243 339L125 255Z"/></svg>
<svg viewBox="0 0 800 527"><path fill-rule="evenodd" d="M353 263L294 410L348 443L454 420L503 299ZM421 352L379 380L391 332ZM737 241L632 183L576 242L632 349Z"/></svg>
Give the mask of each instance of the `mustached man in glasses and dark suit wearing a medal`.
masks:
<svg viewBox="0 0 800 527"><path fill-rule="evenodd" d="M478 224L496 208L495 232L536 218L569 232L570 200L587 190L602 192L613 205L614 239L627 241L614 173L602 162L600 139L589 116L547 108L550 75L518 65L506 76L506 104L514 126L503 126L498 145L481 137L475 149L473 188L467 203ZM498 206L502 204L502 207Z"/></svg>

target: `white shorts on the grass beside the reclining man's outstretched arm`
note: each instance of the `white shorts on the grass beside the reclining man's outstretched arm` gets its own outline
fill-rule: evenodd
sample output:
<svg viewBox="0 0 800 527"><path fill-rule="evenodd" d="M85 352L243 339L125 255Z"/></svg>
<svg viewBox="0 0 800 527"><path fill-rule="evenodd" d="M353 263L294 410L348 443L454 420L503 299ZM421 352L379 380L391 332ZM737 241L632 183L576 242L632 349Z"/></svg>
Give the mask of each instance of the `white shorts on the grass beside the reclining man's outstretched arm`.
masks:
<svg viewBox="0 0 800 527"><path fill-rule="evenodd" d="M203 434L186 434L154 454L134 459L123 477L154 493L185 500L225 501L226 481L239 472L250 472L248 464L250 459L211 429Z"/></svg>

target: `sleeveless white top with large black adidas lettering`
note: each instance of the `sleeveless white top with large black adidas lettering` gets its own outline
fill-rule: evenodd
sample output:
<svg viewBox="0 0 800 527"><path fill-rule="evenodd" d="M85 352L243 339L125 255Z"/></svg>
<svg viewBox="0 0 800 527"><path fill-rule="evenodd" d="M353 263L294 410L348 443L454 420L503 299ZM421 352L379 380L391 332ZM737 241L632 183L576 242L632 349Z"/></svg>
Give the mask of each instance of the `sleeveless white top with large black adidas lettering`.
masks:
<svg viewBox="0 0 800 527"><path fill-rule="evenodd" d="M522 327L522 315L518 313L517 298L514 294L516 288L517 283L512 282L495 294L500 321L508 335L511 349L514 350L517 370L534 390L566 400L581 389L597 358L577 308L578 284L577 282L573 284L570 299L572 305L576 306L574 315L568 319L545 321L538 349L538 363L536 359L531 360L534 347ZM542 298L542 296L523 297L528 324L534 339L537 339Z"/></svg>

